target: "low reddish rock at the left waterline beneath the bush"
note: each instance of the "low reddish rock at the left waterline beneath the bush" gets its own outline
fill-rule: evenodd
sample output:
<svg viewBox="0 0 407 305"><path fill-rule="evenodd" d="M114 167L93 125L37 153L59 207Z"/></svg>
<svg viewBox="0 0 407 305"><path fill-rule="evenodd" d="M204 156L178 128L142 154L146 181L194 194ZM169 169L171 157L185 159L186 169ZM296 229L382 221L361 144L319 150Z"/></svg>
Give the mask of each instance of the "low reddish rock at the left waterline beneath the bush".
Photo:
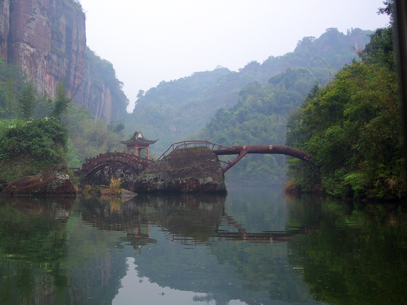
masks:
<svg viewBox="0 0 407 305"><path fill-rule="evenodd" d="M13 180L0 195L76 195L65 164L42 174Z"/></svg>

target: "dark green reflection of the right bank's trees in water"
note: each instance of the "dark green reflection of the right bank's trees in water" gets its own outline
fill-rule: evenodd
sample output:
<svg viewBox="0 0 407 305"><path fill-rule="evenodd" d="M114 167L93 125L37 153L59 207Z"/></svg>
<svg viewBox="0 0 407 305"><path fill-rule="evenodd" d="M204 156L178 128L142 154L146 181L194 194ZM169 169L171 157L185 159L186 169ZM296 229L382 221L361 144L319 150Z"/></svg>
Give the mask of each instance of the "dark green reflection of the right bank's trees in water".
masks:
<svg viewBox="0 0 407 305"><path fill-rule="evenodd" d="M316 300L333 304L397 304L407 299L407 213L389 205L353 207L332 198L290 202L290 221L307 225L313 205L321 215L314 234L289 243L289 261L303 267Z"/></svg>

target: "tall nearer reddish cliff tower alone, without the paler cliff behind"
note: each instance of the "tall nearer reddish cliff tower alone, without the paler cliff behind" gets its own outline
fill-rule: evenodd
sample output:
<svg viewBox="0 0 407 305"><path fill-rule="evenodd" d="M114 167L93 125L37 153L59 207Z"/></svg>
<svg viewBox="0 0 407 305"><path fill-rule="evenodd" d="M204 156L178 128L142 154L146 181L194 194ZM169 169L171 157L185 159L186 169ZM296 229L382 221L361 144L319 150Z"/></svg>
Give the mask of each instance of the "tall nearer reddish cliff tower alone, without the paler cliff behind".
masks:
<svg viewBox="0 0 407 305"><path fill-rule="evenodd" d="M20 66L40 93L54 97L57 84L64 80L68 96L74 96L84 75L86 36L81 7L64 0L5 1L10 11L4 57Z"/></svg>

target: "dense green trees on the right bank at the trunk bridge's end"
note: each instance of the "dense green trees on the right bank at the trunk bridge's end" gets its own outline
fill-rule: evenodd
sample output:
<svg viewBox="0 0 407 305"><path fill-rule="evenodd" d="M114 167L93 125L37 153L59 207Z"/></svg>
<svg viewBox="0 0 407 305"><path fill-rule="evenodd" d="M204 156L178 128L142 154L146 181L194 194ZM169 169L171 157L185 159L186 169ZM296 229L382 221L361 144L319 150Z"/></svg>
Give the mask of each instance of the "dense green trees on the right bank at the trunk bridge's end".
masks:
<svg viewBox="0 0 407 305"><path fill-rule="evenodd" d="M290 162L288 176L296 187L334 196L405 196L392 42L382 39L391 31L377 30L362 62L344 67L290 114L287 145L307 151L313 161Z"/></svg>

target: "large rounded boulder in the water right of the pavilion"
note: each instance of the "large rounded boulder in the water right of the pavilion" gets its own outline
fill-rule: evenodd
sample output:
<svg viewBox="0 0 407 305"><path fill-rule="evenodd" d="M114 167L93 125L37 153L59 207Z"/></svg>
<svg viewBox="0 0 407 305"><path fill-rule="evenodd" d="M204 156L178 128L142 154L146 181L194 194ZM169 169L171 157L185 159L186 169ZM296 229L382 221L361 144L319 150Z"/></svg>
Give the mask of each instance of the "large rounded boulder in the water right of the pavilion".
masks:
<svg viewBox="0 0 407 305"><path fill-rule="evenodd" d="M134 192L226 193L226 186L213 151L193 147L151 163L134 182Z"/></svg>

